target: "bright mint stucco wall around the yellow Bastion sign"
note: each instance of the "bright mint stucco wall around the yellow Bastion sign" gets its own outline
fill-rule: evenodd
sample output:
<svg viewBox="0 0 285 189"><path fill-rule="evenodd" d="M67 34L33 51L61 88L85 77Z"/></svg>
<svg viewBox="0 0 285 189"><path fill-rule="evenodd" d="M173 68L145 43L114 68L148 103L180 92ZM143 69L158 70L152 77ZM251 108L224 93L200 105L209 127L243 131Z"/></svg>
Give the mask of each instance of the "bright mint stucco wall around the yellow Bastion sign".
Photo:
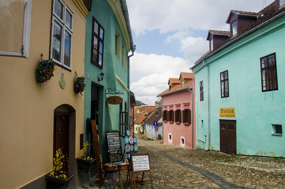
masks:
<svg viewBox="0 0 285 189"><path fill-rule="evenodd" d="M272 135L272 124L280 124L283 128L285 124L282 113L285 110L285 55L280 40L285 32L284 23L283 17L205 60L206 64L210 63L211 149L220 150L219 119L229 119L236 120L237 154L284 157L284 136ZM276 53L278 90L262 92L260 58L272 53ZM205 81L205 69L193 70L197 81ZM229 74L229 97L221 98L220 73L226 70ZM199 86L196 86L197 95ZM206 86L204 82L204 99ZM235 118L220 118L219 108L228 107L235 108ZM205 114L207 108L198 103L197 116ZM203 132L205 130L198 126L199 137ZM197 147L202 148L202 145L198 141Z"/></svg>

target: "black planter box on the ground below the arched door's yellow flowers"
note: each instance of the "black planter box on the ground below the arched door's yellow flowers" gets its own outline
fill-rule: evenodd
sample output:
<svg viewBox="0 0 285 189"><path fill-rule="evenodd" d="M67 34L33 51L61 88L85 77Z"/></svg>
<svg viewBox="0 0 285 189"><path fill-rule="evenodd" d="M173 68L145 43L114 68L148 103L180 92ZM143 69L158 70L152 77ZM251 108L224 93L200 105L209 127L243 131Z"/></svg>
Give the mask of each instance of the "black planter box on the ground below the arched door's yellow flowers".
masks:
<svg viewBox="0 0 285 189"><path fill-rule="evenodd" d="M69 175L70 177L64 180L46 174L46 189L66 189L68 187L70 180L73 178L72 174Z"/></svg>

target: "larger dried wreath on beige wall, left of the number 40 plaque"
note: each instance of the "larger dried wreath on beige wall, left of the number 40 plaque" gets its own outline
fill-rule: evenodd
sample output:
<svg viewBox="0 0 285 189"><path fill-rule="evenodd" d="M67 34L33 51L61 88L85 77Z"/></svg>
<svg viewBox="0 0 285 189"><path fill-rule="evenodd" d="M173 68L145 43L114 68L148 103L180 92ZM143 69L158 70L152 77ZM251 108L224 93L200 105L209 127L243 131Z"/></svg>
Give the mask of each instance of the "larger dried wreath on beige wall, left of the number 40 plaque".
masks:
<svg viewBox="0 0 285 189"><path fill-rule="evenodd" d="M54 75L54 66L55 63L50 60L42 60L40 59L40 63L38 64L38 69L36 69L36 80L38 83L44 83L50 80Z"/></svg>

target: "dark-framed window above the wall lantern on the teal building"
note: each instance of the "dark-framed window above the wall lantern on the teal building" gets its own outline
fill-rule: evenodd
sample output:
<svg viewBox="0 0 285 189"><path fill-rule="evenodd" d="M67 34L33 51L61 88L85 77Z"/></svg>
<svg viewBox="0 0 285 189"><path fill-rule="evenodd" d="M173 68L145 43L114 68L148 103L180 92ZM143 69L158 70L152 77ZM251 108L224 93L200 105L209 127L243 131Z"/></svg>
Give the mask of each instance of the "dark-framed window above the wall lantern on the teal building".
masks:
<svg viewBox="0 0 285 189"><path fill-rule="evenodd" d="M104 28L93 17L91 62L103 68Z"/></svg>

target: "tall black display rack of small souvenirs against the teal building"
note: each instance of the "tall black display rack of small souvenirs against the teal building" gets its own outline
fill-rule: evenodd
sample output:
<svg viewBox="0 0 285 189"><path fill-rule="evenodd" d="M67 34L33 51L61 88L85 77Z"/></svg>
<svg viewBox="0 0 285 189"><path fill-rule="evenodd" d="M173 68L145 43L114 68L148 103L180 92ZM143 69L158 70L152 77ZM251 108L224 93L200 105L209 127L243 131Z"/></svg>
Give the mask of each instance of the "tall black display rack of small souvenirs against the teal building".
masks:
<svg viewBox="0 0 285 189"><path fill-rule="evenodd" d="M106 131L106 140L108 144L108 153L111 163L123 163L123 151L119 131Z"/></svg>

